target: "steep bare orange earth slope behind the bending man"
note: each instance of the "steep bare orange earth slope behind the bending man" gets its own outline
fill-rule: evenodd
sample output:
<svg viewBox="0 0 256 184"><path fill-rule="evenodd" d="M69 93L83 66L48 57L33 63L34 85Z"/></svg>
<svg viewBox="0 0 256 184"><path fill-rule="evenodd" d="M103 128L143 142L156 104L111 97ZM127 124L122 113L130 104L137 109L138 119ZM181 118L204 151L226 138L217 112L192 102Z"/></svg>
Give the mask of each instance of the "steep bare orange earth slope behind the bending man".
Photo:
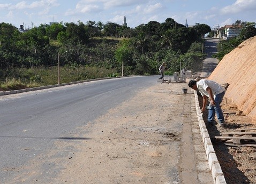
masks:
<svg viewBox="0 0 256 184"><path fill-rule="evenodd" d="M220 61L208 77L220 84L229 83L225 97L244 115L256 122L256 36L247 39Z"/></svg>

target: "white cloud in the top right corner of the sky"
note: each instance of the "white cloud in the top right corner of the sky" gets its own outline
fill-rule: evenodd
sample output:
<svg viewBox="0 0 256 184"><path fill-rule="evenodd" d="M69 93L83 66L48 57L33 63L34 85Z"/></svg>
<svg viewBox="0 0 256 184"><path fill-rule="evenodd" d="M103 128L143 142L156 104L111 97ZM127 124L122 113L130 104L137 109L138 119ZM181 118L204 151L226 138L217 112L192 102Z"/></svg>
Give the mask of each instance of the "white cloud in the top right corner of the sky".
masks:
<svg viewBox="0 0 256 184"><path fill-rule="evenodd" d="M220 12L223 14L235 14L247 10L256 10L255 0L237 0L234 4L223 7Z"/></svg>

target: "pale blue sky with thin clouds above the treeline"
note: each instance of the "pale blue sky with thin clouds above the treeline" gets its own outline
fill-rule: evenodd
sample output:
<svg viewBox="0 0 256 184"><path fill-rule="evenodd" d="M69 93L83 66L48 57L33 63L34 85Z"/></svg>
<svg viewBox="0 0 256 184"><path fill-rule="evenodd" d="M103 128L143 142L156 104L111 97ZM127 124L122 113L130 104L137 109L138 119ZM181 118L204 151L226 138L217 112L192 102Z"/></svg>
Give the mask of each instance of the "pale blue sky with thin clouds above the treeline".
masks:
<svg viewBox="0 0 256 184"><path fill-rule="evenodd" d="M149 21L164 22L172 18L185 25L205 23L231 25L236 20L256 22L256 0L1 0L0 22L19 28L40 26L49 22L81 22L89 20L134 28Z"/></svg>

